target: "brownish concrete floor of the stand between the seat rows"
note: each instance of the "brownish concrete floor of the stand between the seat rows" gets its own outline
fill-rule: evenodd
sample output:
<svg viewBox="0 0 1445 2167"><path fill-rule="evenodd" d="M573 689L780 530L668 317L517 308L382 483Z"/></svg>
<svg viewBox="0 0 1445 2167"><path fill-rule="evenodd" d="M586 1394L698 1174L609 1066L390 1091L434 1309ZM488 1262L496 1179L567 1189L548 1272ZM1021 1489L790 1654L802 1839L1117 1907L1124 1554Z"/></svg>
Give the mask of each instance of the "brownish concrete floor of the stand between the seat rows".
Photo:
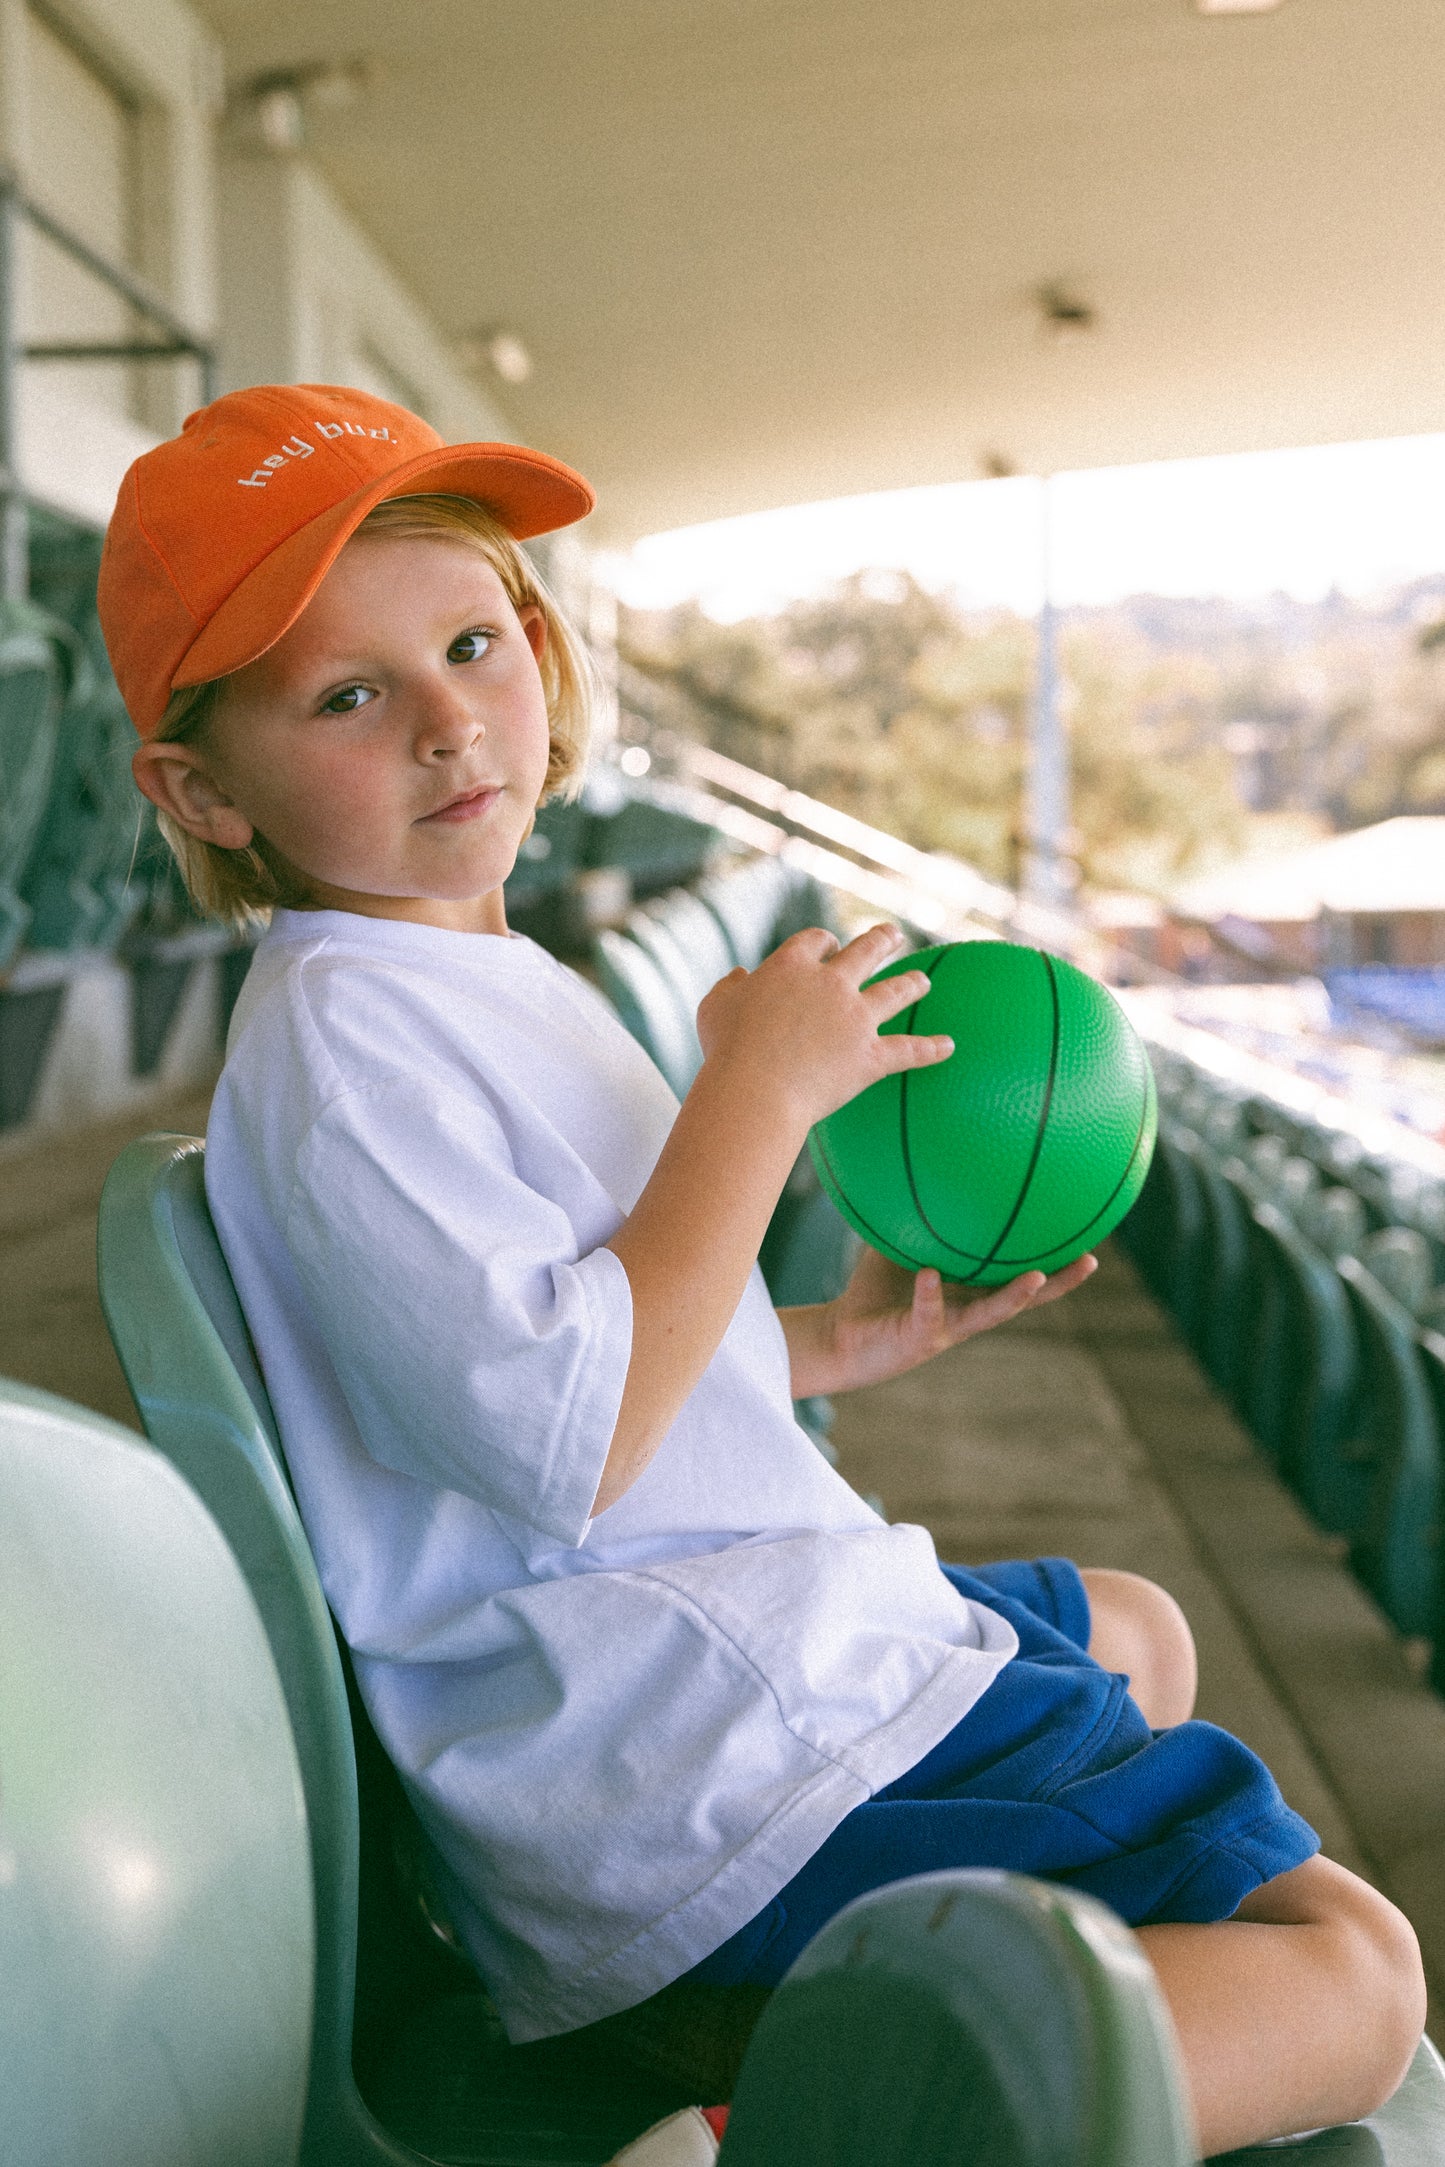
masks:
<svg viewBox="0 0 1445 2167"><path fill-rule="evenodd" d="M134 1424L95 1298L95 1201L130 1136L204 1120L193 1092L0 1155L0 1374ZM945 1558L1064 1554L1170 1588L1200 1714L1410 1913L1445 2020L1445 1701L1122 1257L1068 1302L841 1400L836 1443L843 1474Z"/></svg>

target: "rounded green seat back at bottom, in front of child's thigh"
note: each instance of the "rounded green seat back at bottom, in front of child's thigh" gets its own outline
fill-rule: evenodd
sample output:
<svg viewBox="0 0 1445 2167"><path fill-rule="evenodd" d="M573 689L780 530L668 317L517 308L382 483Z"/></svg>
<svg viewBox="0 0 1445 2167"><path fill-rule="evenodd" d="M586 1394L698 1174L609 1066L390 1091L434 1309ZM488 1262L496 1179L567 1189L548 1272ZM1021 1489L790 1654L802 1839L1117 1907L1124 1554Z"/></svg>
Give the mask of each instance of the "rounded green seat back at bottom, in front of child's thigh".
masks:
<svg viewBox="0 0 1445 2167"><path fill-rule="evenodd" d="M776 1989L719 2167L1187 2167L1163 1996L1077 1890L934 1872L847 1905Z"/></svg>

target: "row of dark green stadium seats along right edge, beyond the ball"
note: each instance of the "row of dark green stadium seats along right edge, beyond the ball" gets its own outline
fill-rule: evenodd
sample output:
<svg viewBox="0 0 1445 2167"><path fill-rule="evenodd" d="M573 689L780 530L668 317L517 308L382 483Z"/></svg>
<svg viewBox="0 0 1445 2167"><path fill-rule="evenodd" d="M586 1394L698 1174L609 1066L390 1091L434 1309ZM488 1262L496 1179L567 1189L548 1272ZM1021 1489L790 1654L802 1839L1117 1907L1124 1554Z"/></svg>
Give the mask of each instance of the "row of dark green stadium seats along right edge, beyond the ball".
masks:
<svg viewBox="0 0 1445 2167"><path fill-rule="evenodd" d="M1445 1690L1445 1198L1176 1055L1159 1107L1120 1240L1395 1630L1434 1643Z"/></svg>

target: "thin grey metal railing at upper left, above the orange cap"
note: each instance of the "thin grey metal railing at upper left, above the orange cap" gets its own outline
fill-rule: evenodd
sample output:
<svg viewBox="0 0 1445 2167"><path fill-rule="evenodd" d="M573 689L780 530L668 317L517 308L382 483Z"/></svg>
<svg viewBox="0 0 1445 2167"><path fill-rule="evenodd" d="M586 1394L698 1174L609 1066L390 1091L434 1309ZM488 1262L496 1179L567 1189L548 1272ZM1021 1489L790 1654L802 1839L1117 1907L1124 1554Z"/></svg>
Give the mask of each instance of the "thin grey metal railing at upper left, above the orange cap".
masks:
<svg viewBox="0 0 1445 2167"><path fill-rule="evenodd" d="M19 228L30 225L119 295L158 336L22 340ZM28 585L28 492L17 464L17 373L26 362L173 362L193 360L201 375L201 403L214 397L214 347L175 314L171 303L123 264L113 262L69 225L52 217L0 171L0 594L24 596Z"/></svg>

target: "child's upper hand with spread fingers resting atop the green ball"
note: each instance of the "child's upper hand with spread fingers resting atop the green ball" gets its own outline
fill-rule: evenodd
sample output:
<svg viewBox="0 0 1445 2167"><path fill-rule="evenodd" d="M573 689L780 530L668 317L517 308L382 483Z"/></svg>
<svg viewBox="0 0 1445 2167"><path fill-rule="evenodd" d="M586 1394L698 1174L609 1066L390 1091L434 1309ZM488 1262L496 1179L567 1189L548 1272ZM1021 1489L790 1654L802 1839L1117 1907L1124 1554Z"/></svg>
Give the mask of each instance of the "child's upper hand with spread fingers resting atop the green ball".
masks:
<svg viewBox="0 0 1445 2167"><path fill-rule="evenodd" d="M947 1060L951 1038L877 1036L880 1023L927 992L923 971L862 984L901 943L897 925L873 925L847 947L810 927L784 940L756 971L730 971L698 1010L708 1066L810 1129L880 1077Z"/></svg>

